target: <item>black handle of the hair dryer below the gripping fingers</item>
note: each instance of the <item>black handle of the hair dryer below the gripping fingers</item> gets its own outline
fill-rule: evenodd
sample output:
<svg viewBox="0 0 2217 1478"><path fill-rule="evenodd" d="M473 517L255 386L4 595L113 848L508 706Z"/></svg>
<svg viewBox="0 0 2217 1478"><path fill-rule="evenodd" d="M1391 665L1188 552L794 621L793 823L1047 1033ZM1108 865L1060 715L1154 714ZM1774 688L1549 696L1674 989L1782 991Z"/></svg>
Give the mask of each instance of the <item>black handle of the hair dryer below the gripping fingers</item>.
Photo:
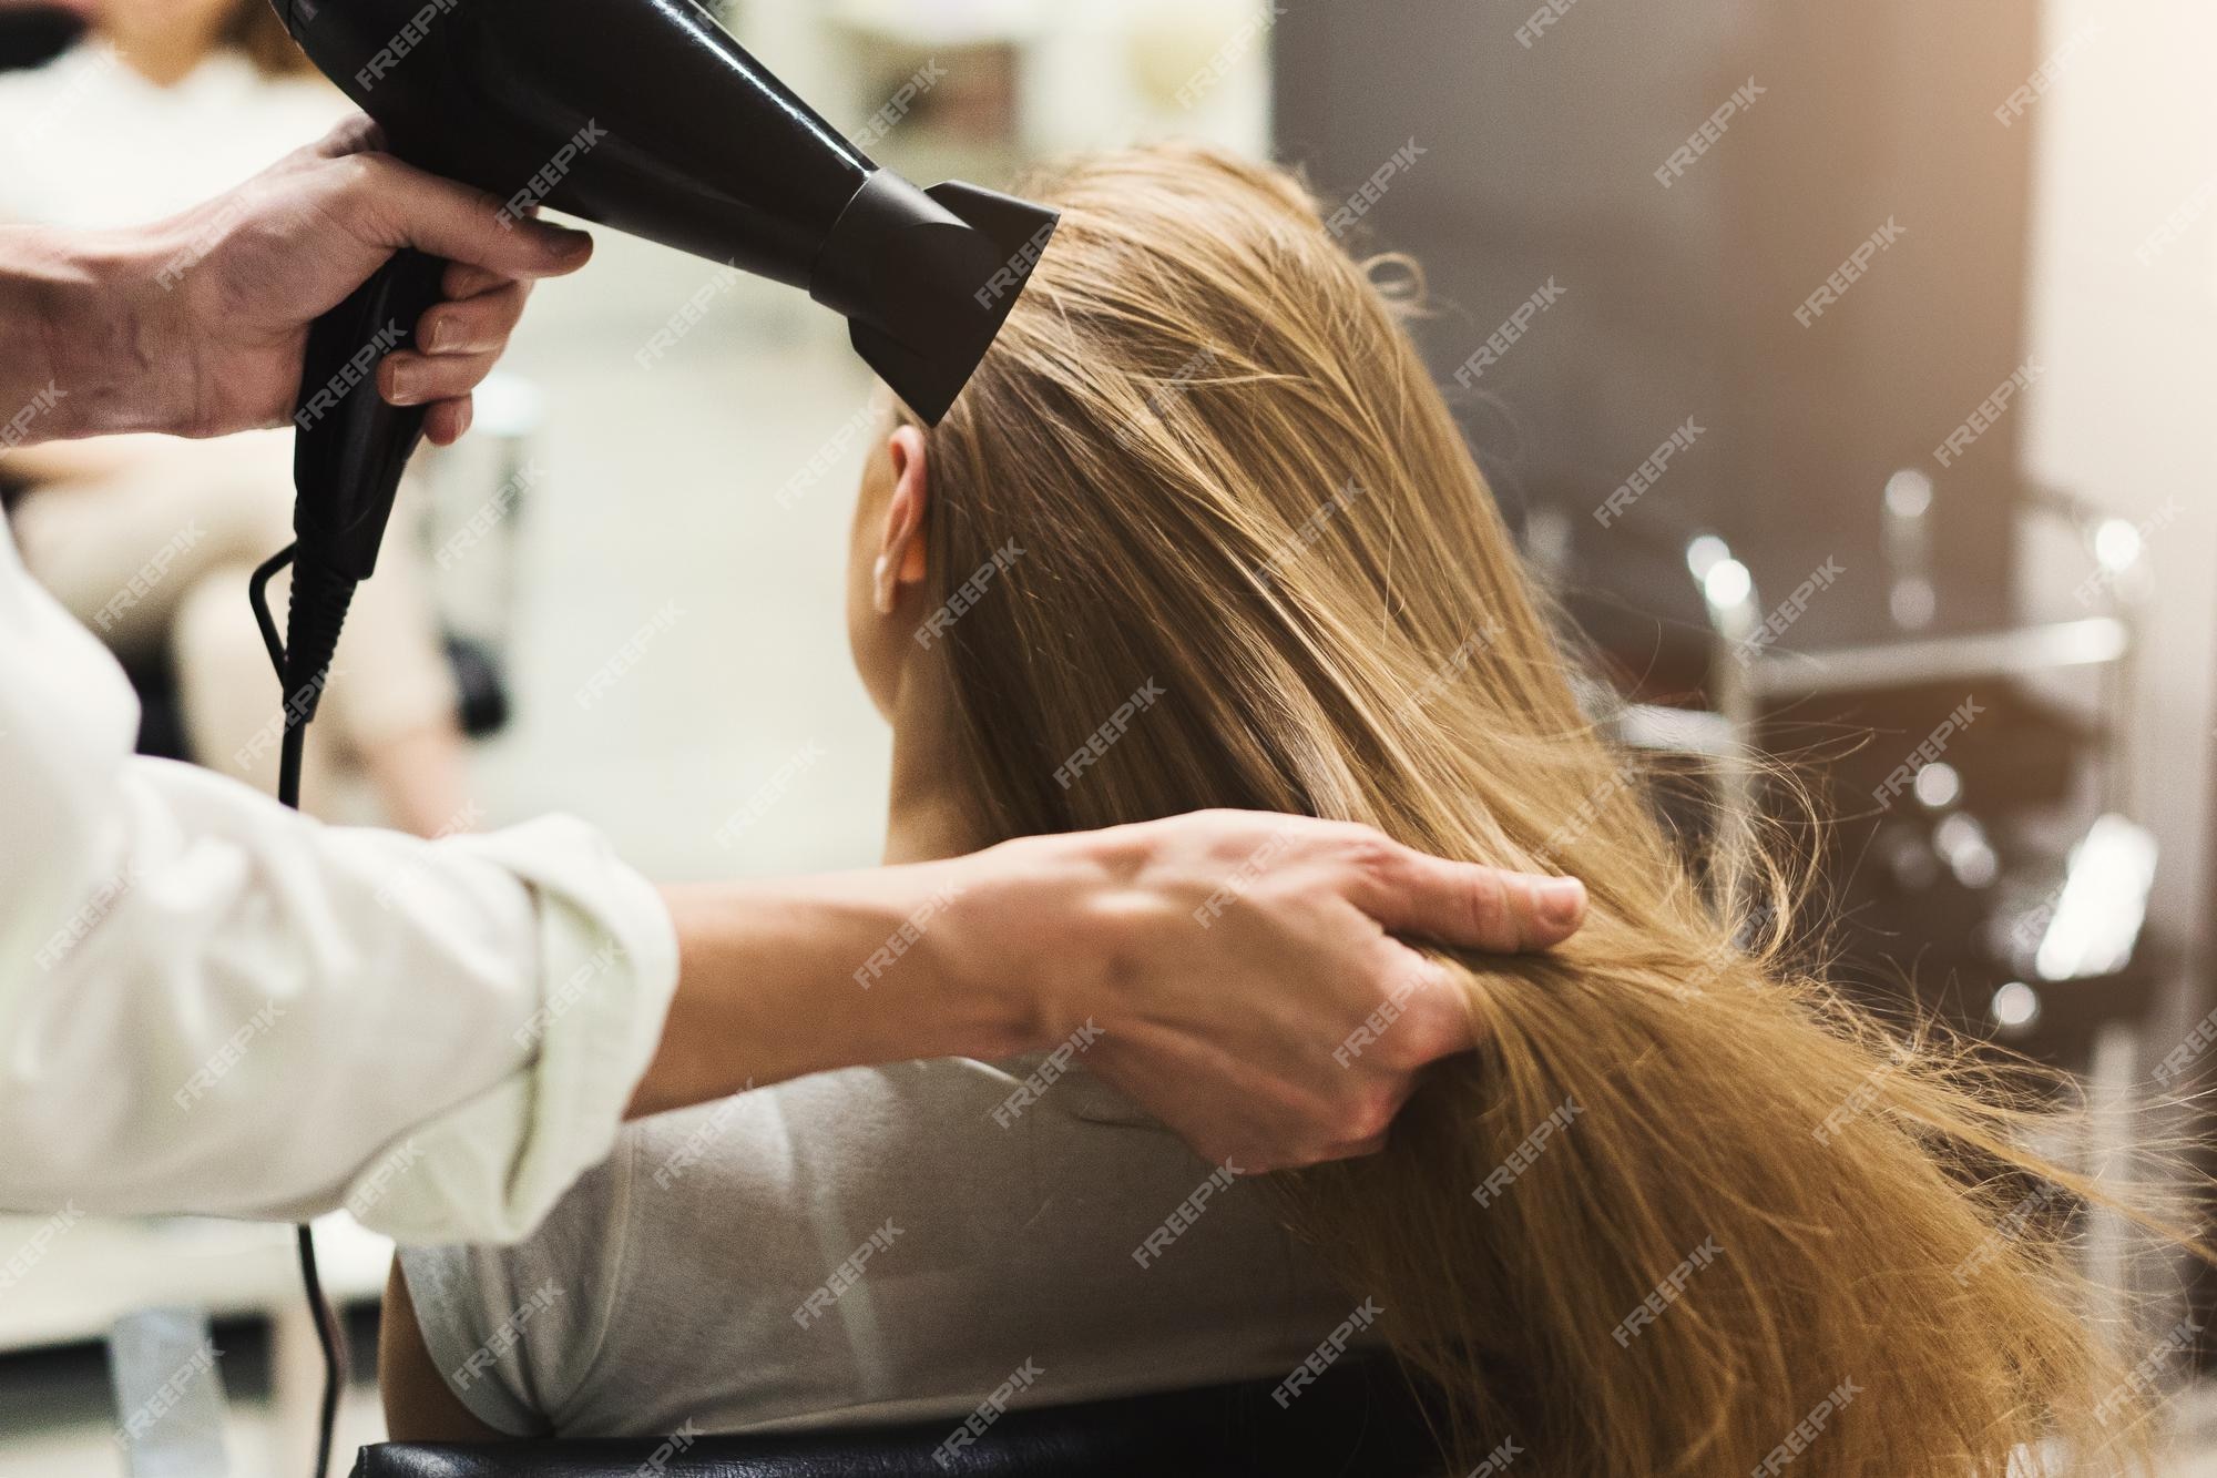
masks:
<svg viewBox="0 0 2217 1478"><path fill-rule="evenodd" d="M293 413L293 535L304 566L348 579L377 568L392 495L423 435L423 406L386 404L377 366L415 342L443 275L439 257L401 251L308 328Z"/></svg>

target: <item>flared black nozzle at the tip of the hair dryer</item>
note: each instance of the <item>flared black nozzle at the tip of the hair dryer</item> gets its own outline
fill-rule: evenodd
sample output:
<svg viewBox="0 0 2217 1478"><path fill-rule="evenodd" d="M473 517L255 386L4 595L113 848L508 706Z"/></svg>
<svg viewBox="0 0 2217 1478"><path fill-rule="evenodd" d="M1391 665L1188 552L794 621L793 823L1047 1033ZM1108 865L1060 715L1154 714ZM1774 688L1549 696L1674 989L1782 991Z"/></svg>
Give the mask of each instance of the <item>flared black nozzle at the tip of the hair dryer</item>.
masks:
<svg viewBox="0 0 2217 1478"><path fill-rule="evenodd" d="M938 426L1055 233L1055 211L949 180L873 171L825 237L809 295L849 320L854 351Z"/></svg>

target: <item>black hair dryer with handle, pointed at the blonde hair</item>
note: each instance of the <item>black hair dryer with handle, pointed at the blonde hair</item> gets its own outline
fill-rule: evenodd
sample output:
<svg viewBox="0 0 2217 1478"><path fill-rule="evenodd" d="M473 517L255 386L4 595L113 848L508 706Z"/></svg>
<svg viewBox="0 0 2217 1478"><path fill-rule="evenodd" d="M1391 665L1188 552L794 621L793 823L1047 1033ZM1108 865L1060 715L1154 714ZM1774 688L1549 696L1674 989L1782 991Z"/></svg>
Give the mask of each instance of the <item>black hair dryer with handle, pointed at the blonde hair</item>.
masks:
<svg viewBox="0 0 2217 1478"><path fill-rule="evenodd" d="M517 213L548 204L807 288L929 424L1055 229L1024 200L962 182L924 191L878 169L694 0L275 4L399 158ZM344 595L377 564L423 431L421 408L384 404L375 368L439 300L439 275L403 251L308 335L284 666L310 712L324 637L337 641Z"/></svg>

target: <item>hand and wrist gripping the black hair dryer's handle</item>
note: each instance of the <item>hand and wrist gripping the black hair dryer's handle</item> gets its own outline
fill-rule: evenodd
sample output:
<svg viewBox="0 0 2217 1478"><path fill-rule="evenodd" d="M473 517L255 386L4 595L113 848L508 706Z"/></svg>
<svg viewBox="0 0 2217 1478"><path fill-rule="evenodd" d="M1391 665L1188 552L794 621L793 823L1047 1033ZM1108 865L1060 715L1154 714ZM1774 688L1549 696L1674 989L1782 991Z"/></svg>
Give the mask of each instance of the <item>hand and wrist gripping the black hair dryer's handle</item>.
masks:
<svg viewBox="0 0 2217 1478"><path fill-rule="evenodd" d="M51 411L31 435L282 426L299 395L308 324L397 249L419 246L452 264L448 302L415 324L428 353L388 355L377 391L428 406L432 442L459 437L470 391L505 348L528 284L576 271L592 242L501 220L492 195L410 169L377 142L375 124L355 118L157 226L33 240L24 255L42 249L33 266L49 275L49 291L31 295L47 315L38 384L60 395L47 397ZM0 293L0 317L4 306Z"/></svg>

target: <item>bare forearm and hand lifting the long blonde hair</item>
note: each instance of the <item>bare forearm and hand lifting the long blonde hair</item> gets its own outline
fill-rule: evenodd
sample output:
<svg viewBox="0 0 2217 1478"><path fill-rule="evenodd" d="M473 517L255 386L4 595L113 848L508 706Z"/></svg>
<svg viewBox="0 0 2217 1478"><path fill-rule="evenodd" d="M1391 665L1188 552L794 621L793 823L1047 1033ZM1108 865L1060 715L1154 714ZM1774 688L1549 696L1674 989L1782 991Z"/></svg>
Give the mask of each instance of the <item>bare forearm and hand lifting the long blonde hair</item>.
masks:
<svg viewBox="0 0 2217 1478"><path fill-rule="evenodd" d="M1394 934L1539 950L1585 914L1570 879L1242 810L663 897L678 990L632 1114L1069 1043L1244 1174L1381 1147L1417 1070L1472 1045L1445 974Z"/></svg>

